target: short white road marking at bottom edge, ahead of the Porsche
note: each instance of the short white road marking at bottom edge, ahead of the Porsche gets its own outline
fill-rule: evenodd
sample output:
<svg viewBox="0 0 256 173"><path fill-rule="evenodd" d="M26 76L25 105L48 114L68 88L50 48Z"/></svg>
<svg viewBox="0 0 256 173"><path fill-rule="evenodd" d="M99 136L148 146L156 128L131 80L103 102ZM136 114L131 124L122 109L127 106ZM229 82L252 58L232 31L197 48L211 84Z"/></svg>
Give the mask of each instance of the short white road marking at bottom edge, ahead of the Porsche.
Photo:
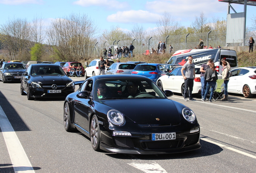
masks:
<svg viewBox="0 0 256 173"><path fill-rule="evenodd" d="M139 169L140 171L143 171L145 173L167 173L165 169L163 169L159 164L157 163L128 163L128 165L131 165L135 167L136 169Z"/></svg>

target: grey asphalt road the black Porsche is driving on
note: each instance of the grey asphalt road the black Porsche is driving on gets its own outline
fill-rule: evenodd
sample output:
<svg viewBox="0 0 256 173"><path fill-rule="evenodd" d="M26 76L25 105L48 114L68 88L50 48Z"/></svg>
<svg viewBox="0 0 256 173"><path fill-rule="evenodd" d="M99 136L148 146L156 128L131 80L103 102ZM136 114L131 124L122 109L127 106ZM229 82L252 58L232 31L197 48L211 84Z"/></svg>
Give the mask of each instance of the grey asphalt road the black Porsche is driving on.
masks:
<svg viewBox="0 0 256 173"><path fill-rule="evenodd" d="M229 95L229 101L213 103L196 96L197 101L185 102L181 95L170 99L195 112L202 148L169 155L123 155L96 152L85 135L66 132L63 100L28 101L21 96L19 83L0 82L0 173L256 172L255 97Z"/></svg>

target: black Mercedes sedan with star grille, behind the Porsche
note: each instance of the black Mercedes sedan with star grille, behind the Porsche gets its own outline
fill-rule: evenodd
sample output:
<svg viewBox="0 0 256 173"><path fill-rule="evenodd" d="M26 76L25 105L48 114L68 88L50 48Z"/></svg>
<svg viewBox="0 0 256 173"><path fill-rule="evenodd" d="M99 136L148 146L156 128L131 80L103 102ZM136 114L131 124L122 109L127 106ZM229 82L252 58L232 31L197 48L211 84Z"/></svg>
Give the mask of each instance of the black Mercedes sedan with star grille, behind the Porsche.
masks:
<svg viewBox="0 0 256 173"><path fill-rule="evenodd" d="M56 64L31 64L21 77L21 95L28 100L66 97L74 92L74 82Z"/></svg>

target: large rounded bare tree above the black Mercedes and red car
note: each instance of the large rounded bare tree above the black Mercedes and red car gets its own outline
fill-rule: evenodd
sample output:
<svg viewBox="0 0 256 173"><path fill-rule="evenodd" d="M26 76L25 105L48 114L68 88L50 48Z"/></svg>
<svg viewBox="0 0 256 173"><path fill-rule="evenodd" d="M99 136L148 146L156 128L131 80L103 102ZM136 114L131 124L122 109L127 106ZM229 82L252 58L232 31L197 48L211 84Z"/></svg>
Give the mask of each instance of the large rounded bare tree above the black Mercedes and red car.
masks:
<svg viewBox="0 0 256 173"><path fill-rule="evenodd" d="M86 14L70 14L52 21L47 36L48 43L58 50L59 58L77 61L90 57L96 33L97 27Z"/></svg>

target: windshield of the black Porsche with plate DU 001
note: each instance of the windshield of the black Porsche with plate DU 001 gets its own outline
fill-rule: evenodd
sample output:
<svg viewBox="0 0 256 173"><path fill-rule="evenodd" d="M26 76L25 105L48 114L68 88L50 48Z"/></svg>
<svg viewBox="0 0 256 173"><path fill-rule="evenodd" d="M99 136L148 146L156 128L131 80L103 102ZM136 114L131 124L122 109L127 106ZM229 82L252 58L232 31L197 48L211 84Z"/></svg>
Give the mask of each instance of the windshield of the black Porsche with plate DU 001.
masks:
<svg viewBox="0 0 256 173"><path fill-rule="evenodd" d="M157 85L148 79L99 79L94 87L95 100L166 98Z"/></svg>

